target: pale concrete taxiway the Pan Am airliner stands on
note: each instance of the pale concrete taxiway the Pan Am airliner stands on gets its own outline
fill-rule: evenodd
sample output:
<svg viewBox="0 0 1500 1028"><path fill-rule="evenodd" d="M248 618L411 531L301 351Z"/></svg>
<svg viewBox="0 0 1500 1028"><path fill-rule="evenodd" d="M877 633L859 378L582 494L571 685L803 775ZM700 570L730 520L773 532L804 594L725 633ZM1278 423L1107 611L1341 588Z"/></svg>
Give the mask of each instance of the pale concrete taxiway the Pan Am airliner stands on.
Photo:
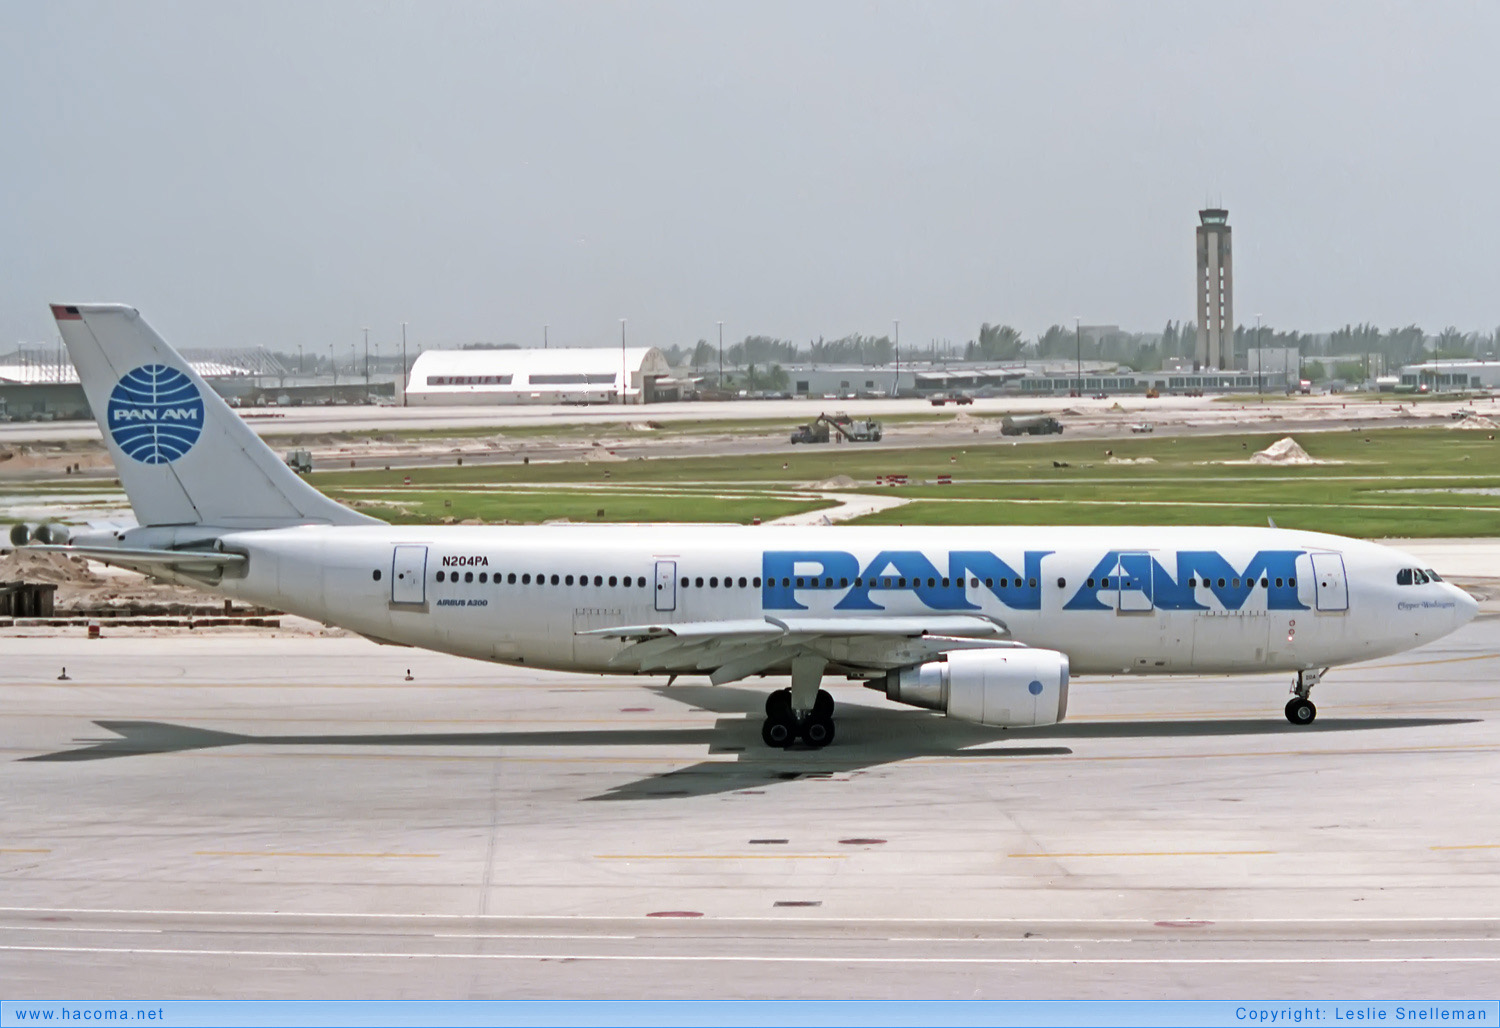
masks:
<svg viewBox="0 0 1500 1028"><path fill-rule="evenodd" d="M1330 672L1078 680L987 729L836 686L352 638L8 638L8 998L1486 998L1500 618ZM66 680L58 680L66 665ZM411 680L406 680L406 674Z"/></svg>

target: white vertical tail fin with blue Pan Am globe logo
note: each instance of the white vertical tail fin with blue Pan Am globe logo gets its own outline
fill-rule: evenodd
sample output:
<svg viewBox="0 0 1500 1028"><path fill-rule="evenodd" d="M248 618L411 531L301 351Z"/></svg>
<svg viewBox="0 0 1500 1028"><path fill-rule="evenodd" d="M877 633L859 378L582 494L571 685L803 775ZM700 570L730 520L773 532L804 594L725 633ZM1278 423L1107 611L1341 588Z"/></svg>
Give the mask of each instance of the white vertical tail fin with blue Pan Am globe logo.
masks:
<svg viewBox="0 0 1500 1028"><path fill-rule="evenodd" d="M135 308L57 303L52 317L142 525L378 524L297 477Z"/></svg>

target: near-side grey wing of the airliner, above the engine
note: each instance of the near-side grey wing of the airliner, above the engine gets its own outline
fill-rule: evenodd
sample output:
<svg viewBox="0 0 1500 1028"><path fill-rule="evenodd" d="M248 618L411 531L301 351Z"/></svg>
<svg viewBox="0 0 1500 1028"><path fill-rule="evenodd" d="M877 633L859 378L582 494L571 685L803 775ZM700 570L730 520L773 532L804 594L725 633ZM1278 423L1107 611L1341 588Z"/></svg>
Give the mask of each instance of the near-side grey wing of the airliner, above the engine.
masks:
<svg viewBox="0 0 1500 1028"><path fill-rule="evenodd" d="M771 617L760 620L632 624L579 632L624 639L610 663L634 671L708 671L714 684L778 668L802 654L830 665L880 672L950 650L1020 645L1000 621L974 614L932 617Z"/></svg>

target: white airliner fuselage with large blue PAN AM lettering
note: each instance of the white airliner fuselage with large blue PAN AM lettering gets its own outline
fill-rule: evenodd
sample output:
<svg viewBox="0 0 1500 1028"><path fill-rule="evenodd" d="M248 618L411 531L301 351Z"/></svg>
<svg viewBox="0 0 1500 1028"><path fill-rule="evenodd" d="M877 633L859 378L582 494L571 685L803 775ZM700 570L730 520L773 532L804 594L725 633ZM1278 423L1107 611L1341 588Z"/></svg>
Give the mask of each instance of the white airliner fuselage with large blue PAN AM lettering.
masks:
<svg viewBox="0 0 1500 1028"><path fill-rule="evenodd" d="M249 558L224 594L384 642L597 672L640 668L588 632L792 614L982 615L1077 674L1299 671L1400 653L1474 612L1444 582L1398 584L1418 567L1400 551L1276 528L370 525L222 543Z"/></svg>

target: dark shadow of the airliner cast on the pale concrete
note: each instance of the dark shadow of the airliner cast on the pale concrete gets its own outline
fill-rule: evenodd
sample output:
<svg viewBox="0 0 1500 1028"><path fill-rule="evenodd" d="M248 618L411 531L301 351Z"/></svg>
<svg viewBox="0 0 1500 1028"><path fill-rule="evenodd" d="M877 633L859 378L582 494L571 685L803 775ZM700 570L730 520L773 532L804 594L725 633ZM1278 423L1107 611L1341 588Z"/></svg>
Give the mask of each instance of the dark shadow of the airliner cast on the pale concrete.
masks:
<svg viewBox="0 0 1500 1028"><path fill-rule="evenodd" d="M662 699L694 710L728 714L711 728L606 728L582 731L498 731L498 732L380 732L249 735L212 728L194 728L158 720L96 720L112 732L110 738L80 738L84 746L57 750L22 761L99 761L152 753L182 753L224 746L398 746L398 747L507 747L507 746L706 746L710 756L735 755L735 759L710 759L664 774L614 786L592 800L663 800L714 795L758 789L795 779L831 779L861 773L882 764L921 756L993 758L1068 756L1071 738L1182 738L1221 735L1328 735L1330 732L1376 728L1424 728L1468 723L1462 717L1323 717L1306 728L1280 719L1203 719L1146 720L1107 723L1062 723L1048 728L1008 731L904 707L866 707L843 704L838 711L838 737L822 750L768 749L760 741L760 711L765 693L729 686L654 687ZM1035 746L1029 743L1053 743ZM987 746L1005 743L1004 746ZM978 747L978 749L976 749Z"/></svg>

